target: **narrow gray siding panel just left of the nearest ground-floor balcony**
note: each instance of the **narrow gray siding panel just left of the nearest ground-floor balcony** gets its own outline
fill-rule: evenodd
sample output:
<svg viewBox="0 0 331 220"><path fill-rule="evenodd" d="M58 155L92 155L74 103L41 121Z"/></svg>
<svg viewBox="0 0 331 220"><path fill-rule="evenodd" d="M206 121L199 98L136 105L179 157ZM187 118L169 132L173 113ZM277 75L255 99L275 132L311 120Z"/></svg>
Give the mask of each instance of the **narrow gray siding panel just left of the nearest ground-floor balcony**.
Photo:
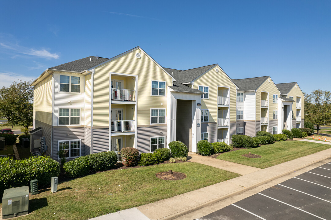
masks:
<svg viewBox="0 0 331 220"><path fill-rule="evenodd" d="M92 129L92 153L109 151L109 128Z"/></svg>

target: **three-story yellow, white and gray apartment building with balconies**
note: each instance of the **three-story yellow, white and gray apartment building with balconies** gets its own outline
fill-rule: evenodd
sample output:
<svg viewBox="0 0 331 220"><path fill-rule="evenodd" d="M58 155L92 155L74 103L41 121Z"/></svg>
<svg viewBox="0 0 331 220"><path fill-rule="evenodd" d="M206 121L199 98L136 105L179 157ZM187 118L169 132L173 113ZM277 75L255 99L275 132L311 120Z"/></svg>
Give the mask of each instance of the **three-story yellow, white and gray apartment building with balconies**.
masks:
<svg viewBox="0 0 331 220"><path fill-rule="evenodd" d="M270 77L252 79L231 80L218 64L164 68L140 47L54 66L31 84L31 147L45 137L55 160L62 149L68 159L115 151L120 160L123 147L146 153L180 140L196 152L201 139L229 144L236 133L272 133L278 100L291 102L286 110L293 100Z"/></svg>

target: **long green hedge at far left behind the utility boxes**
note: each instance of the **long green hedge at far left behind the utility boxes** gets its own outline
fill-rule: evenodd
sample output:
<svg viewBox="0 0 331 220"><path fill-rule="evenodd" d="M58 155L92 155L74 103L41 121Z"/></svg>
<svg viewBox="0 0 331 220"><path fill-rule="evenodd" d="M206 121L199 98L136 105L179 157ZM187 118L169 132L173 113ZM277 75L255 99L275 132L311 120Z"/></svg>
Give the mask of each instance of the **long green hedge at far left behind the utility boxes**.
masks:
<svg viewBox="0 0 331 220"><path fill-rule="evenodd" d="M49 156L21 160L0 158L0 173L0 195L2 195L5 189L29 186L33 179L37 179L41 187L50 186L51 177L60 173L60 164Z"/></svg>

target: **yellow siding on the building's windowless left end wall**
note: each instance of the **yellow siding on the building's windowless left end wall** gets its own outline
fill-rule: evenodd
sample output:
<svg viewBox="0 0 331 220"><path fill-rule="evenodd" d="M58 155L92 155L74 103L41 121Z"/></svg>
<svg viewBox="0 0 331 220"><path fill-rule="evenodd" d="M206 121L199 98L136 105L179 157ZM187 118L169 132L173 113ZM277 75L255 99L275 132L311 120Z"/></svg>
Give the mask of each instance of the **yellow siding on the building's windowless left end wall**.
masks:
<svg viewBox="0 0 331 220"><path fill-rule="evenodd" d="M33 119L52 125L53 76L38 83L33 95Z"/></svg>

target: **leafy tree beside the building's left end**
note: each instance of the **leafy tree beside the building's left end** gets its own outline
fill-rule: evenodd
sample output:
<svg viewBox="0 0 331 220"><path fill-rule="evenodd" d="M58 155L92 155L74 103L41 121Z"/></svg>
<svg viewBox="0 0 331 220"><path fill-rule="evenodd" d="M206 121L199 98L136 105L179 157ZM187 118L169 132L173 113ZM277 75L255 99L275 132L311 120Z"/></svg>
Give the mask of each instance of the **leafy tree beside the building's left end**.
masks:
<svg viewBox="0 0 331 220"><path fill-rule="evenodd" d="M20 125L25 128L33 123L33 88L32 80L14 82L10 87L0 89L0 117L8 119L8 125Z"/></svg>

